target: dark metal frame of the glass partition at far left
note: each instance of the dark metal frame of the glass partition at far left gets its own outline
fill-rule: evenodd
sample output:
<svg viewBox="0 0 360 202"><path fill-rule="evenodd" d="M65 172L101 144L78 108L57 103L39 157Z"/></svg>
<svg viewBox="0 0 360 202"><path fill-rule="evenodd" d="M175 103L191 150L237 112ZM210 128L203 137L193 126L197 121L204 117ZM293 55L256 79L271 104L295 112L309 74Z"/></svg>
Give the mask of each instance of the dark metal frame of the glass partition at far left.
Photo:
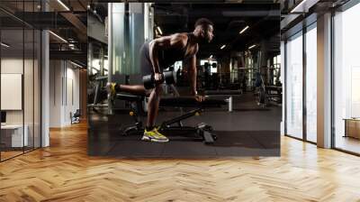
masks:
<svg viewBox="0 0 360 202"><path fill-rule="evenodd" d="M35 3L42 3L42 0L22 0L22 1L19 1L23 4L23 11L24 11L24 5L25 5L25 2L26 3L32 3L32 11L35 11ZM13 14L11 13L8 13L6 10L4 10L3 8L1 8L2 11L4 11L6 14L10 14L11 16L14 17L14 19L18 20L19 22L21 22L22 24L22 29L19 29L20 32L23 32L23 36L22 36L22 40L23 40L23 78L22 78L22 117L23 117L23 149L22 149L22 152L19 153L19 154L16 154L16 155L13 155L13 156L10 156L6 159L4 159L4 155L2 151L0 151L0 162L2 161L7 161L7 160L10 160L10 159L13 159L17 156L20 156L20 155L23 155L24 153L27 153L27 152L32 152L36 149L39 149L41 146L42 146L42 100L41 100L41 97L42 97L42 73L41 73L41 69L42 69L42 35L41 35L41 32L42 30L40 29L36 29L35 27L31 26L29 23L26 23L24 22L23 20L19 19L18 17L14 16ZM42 6L41 6L41 11L42 11ZM23 13L23 17L24 17L24 13ZM31 147L27 147L26 150L25 150L25 138L24 138L24 133L25 133L25 129L24 129L24 125L25 125L25 100L24 100L24 92L25 92L25 89L24 89L24 74L25 74L25 28L26 27L29 27L30 28L30 32L32 33L32 37L31 37L31 40L32 40L32 44L31 44L31 48L32 48L32 63L31 63L31 66L32 66L32 81L31 81L31 86L32 86L32 110L30 110L30 113L32 113L31 117L32 117L32 145ZM2 41L2 32L3 32L4 29L0 29L0 41ZM38 32L38 34L36 34L36 31L40 31ZM36 48L35 48L35 41L36 41L36 38L35 38L35 35L36 35L36 38L37 38L37 43L39 43ZM36 57L35 55L35 49L37 49L37 54L38 54L38 57ZM0 49L0 73L1 73L1 66L2 66L2 55L3 55L3 52L2 50ZM38 102L39 103L36 103L35 104L35 60L36 58L39 60L38 62L38 71L37 71L37 74L38 74L38 77L39 77L39 83L37 83L37 87L39 87L39 89L37 90L38 91ZM30 68L30 66L28 67ZM1 78L0 78L1 80ZM1 84L0 84L0 87L1 87ZM1 104L0 104L1 106ZM38 139L36 142L39 143L39 145L35 145L35 107L37 108L37 110L39 110L39 115L38 115L38 119L36 120L37 122L39 122L39 128L38 128L38 131L37 131L37 134L38 134ZM1 110L0 110L1 111ZM29 128L30 129L30 128ZM2 140L2 132L0 131L0 142ZM20 151L19 151L20 152Z"/></svg>

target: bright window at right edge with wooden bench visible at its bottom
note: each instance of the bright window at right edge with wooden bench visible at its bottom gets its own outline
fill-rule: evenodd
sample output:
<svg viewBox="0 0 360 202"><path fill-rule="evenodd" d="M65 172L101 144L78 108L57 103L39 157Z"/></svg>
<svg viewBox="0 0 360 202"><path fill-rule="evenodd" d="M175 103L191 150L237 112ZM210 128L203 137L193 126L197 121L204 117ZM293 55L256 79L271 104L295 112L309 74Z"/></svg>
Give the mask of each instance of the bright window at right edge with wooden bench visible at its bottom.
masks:
<svg viewBox="0 0 360 202"><path fill-rule="evenodd" d="M360 4L334 17L335 147L360 153Z"/></svg>

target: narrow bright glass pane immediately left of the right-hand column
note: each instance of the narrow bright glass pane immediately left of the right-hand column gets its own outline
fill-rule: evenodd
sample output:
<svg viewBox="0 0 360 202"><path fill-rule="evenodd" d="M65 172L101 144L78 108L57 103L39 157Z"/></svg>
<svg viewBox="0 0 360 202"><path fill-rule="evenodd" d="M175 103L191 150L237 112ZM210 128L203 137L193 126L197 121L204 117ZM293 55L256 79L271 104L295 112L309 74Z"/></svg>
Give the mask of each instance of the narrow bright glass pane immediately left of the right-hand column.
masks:
<svg viewBox="0 0 360 202"><path fill-rule="evenodd" d="M317 127L317 32L306 32L306 137L316 142Z"/></svg>

